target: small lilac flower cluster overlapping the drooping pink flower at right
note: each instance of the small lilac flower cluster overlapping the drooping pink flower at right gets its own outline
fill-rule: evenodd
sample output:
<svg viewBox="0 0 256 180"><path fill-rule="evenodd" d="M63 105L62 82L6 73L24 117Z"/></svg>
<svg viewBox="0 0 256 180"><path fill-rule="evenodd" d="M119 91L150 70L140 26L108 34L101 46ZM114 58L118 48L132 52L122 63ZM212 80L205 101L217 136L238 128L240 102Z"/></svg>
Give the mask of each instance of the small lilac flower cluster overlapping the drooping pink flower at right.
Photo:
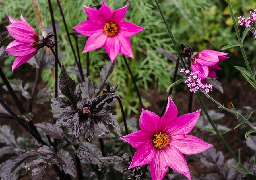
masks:
<svg viewBox="0 0 256 180"><path fill-rule="evenodd" d="M189 70L181 69L180 72L182 72L185 76L187 76L187 80L185 80L185 84L187 84L187 87L189 87L189 91L195 93L198 89L203 89L206 93L212 91L212 84L202 84L201 78L198 78L196 72L191 72Z"/></svg>

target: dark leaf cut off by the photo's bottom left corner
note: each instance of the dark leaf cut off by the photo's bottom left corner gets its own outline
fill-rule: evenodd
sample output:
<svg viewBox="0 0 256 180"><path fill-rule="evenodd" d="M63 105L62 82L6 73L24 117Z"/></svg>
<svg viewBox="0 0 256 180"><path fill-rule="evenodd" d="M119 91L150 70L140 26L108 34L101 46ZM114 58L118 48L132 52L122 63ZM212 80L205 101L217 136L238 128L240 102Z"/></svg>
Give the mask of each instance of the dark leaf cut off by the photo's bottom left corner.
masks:
<svg viewBox="0 0 256 180"><path fill-rule="evenodd" d="M24 175L23 173L28 173L28 169L25 168L26 160L27 157L15 157L1 163L1 180L18 179L19 176Z"/></svg>

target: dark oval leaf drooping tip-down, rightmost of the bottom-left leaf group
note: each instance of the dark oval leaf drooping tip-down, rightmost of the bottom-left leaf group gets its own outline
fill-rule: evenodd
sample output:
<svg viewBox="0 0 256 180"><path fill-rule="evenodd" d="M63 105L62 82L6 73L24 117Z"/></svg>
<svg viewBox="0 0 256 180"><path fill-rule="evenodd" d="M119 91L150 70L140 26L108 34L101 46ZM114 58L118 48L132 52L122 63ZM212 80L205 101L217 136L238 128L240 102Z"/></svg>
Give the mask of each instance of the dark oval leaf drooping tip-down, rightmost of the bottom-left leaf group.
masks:
<svg viewBox="0 0 256 180"><path fill-rule="evenodd" d="M63 170L66 174L75 177L75 165L71 155L67 151L61 149L58 151L57 156L58 166L60 169Z"/></svg>

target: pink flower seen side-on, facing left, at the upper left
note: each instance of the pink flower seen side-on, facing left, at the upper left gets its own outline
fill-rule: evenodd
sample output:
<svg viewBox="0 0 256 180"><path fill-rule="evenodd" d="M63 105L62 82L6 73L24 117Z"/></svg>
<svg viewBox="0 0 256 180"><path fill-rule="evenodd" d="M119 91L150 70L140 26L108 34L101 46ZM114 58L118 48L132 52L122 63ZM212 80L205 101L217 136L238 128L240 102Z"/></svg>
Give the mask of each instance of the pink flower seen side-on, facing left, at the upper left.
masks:
<svg viewBox="0 0 256 180"><path fill-rule="evenodd" d="M7 27L7 30L15 40L11 42L6 52L11 55L18 56L12 66L12 72L33 57L38 49L44 47L42 36L39 36L34 28L32 28L23 16L20 16L21 21L8 16L11 24Z"/></svg>

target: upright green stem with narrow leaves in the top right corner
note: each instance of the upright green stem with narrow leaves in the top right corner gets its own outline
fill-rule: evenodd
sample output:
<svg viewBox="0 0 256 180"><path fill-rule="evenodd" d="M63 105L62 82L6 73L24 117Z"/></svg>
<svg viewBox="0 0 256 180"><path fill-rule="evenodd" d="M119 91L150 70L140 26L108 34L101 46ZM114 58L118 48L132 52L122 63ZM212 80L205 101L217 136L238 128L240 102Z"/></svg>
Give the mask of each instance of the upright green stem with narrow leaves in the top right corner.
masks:
<svg viewBox="0 0 256 180"><path fill-rule="evenodd" d="M248 59L247 59L246 54L245 54L245 50L243 48L243 42L242 42L240 34L239 34L239 30L238 30L238 27L237 27L237 24L236 24L236 20L235 20L235 16L234 16L234 13L233 13L233 10L232 10L232 6L231 6L231 3L230 3L230 0L227 0L227 2L228 2L228 8L229 8L229 11L230 11L230 15L231 15L234 27L235 27L236 36L237 36L238 42L240 44L240 49L241 49L241 52L242 52L242 55L243 55L243 59L244 59L245 65L246 65L247 70L249 71L249 73L251 75L253 83L256 85L256 80L253 77L253 72L251 70L251 67L249 65Z"/></svg>

